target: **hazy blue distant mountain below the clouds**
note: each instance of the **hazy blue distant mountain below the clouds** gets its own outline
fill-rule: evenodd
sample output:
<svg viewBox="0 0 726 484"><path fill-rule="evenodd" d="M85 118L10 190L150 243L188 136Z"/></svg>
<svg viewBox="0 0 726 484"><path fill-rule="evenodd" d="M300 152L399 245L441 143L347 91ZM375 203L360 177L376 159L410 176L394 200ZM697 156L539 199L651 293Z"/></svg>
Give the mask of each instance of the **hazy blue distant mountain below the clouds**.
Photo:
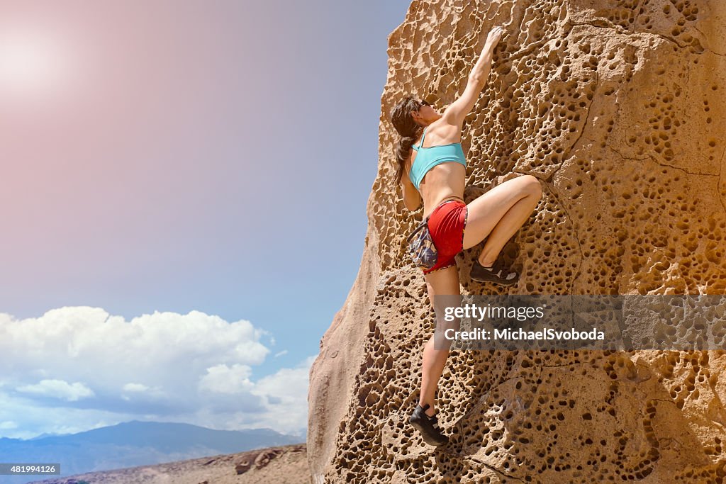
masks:
<svg viewBox="0 0 726 484"><path fill-rule="evenodd" d="M213 430L169 422L124 422L29 440L0 438L2 462L60 463L61 476L285 446L305 440L274 430ZM53 477L53 476L46 476ZM55 476L58 477L58 476ZM43 476L2 476L7 484Z"/></svg>

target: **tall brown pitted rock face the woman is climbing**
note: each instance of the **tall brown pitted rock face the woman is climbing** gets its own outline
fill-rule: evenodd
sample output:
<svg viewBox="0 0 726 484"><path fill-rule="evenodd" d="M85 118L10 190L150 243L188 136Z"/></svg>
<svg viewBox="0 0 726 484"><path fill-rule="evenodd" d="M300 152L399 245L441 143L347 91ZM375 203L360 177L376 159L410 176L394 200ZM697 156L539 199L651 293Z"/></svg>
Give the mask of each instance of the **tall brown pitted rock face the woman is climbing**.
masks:
<svg viewBox="0 0 726 484"><path fill-rule="evenodd" d="M544 195L505 248L518 286L470 281L475 248L462 293L726 292L726 2L415 0L388 38L362 267L311 369L313 482L724 482L721 350L454 351L438 395L452 443L408 424L434 321L388 113L407 93L451 103L494 25L462 133L467 202L513 173Z"/></svg>

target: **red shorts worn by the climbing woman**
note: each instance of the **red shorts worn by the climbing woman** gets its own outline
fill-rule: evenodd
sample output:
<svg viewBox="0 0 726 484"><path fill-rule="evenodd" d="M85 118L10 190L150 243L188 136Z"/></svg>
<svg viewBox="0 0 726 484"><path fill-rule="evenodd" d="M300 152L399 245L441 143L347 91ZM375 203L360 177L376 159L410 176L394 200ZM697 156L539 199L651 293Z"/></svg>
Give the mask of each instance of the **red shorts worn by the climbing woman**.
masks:
<svg viewBox="0 0 726 484"><path fill-rule="evenodd" d="M428 218L428 231L439 254L436 266L424 269L429 274L456 265L456 255L464 250L464 229L468 210L462 200L446 200L433 209Z"/></svg>

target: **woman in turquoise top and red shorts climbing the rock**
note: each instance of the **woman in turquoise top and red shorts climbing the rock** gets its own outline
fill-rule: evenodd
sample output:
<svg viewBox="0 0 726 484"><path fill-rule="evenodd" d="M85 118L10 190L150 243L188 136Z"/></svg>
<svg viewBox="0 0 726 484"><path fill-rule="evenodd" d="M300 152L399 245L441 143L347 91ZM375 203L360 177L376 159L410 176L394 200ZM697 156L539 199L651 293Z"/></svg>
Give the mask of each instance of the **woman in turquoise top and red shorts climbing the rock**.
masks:
<svg viewBox="0 0 726 484"><path fill-rule="evenodd" d="M425 269L423 274L436 312L436 331L444 327L444 320L441 298L434 300L434 296L456 295L460 300L459 272L454 259L457 253L474 247L486 237L470 278L504 285L517 282L518 274L504 268L497 256L542 197L539 181L526 175L495 186L468 205L463 200L466 159L461 148L462 124L489 78L492 52L502 33L501 27L489 32L466 89L443 114L428 102L410 97L396 104L391 112L393 126L402 136L396 148L399 163L396 183L402 186L404 205L409 210L417 210L423 202L423 216L431 214L428 229L438 259L436 266ZM434 446L449 440L439 430L434 401L449 346L435 348L433 335L426 343L420 398L410 418L423 440Z"/></svg>

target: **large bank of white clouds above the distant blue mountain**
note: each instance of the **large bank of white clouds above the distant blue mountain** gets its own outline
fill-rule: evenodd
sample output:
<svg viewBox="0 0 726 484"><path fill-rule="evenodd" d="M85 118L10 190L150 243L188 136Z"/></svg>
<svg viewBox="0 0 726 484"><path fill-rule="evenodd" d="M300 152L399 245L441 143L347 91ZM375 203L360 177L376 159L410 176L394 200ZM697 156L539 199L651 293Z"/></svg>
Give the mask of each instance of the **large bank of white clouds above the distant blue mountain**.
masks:
<svg viewBox="0 0 726 484"><path fill-rule="evenodd" d="M131 321L87 306L30 319L0 313L0 422L17 424L0 424L0 436L131 419L300 432L311 358L256 381L269 353L264 335L249 321L200 311Z"/></svg>

